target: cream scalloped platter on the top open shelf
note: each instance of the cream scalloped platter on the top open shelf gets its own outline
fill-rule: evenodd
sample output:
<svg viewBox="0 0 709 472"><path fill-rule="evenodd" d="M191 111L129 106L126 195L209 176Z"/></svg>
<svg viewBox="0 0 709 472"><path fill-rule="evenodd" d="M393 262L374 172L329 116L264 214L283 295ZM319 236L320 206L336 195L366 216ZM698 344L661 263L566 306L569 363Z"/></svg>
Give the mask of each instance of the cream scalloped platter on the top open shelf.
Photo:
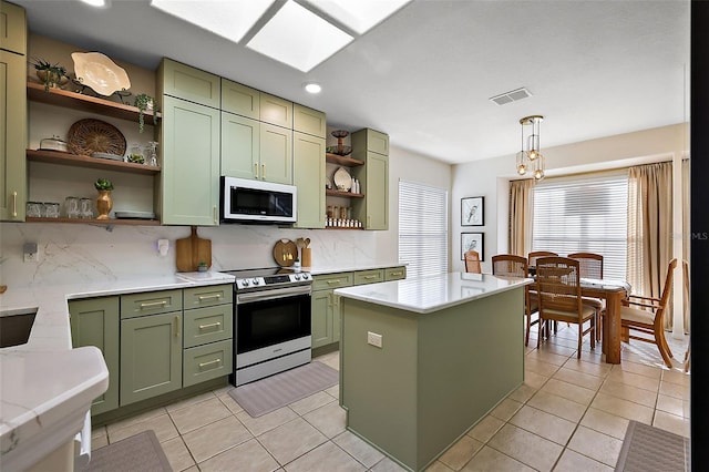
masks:
<svg viewBox="0 0 709 472"><path fill-rule="evenodd" d="M125 70L100 52L72 52L76 80L96 93L109 96L131 88Z"/></svg>

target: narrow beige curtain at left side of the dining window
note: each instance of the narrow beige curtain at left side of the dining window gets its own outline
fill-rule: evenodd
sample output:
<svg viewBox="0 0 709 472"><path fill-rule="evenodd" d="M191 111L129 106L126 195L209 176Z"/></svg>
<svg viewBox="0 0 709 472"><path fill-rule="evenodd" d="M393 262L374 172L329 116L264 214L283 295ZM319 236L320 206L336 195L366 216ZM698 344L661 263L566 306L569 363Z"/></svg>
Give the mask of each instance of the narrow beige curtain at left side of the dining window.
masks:
<svg viewBox="0 0 709 472"><path fill-rule="evenodd" d="M507 235L510 254L527 257L532 248L532 226L534 223L534 205L532 186L534 181L510 182L510 233Z"/></svg>

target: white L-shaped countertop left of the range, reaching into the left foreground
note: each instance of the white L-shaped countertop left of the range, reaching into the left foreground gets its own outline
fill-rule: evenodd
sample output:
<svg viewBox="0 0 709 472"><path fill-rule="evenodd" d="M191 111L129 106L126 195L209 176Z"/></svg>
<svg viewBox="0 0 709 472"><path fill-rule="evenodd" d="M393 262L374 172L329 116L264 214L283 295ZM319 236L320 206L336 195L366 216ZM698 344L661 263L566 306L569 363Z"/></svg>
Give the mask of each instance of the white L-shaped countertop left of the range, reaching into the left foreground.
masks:
<svg viewBox="0 0 709 472"><path fill-rule="evenodd" d="M101 351L72 349L69 300L233 283L234 276L208 271L9 287L0 295L0 315L37 310L37 317L27 343L0 349L0 462L23 464L20 451L37 453L43 437L52 443L58 434L73 437L78 430L71 429L80 429L92 400L109 386Z"/></svg>

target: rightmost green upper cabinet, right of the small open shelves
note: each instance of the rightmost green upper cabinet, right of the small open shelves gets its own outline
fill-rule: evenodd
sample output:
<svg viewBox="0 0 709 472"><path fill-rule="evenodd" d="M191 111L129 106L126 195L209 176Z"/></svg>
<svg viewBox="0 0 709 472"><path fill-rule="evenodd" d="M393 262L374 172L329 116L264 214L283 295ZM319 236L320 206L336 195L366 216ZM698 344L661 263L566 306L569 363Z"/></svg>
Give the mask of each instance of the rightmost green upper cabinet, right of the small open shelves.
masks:
<svg viewBox="0 0 709 472"><path fill-rule="evenodd" d="M364 198L354 202L356 218L364 229L389 228L389 136L374 130L352 133L352 158L364 165L353 170Z"/></svg>

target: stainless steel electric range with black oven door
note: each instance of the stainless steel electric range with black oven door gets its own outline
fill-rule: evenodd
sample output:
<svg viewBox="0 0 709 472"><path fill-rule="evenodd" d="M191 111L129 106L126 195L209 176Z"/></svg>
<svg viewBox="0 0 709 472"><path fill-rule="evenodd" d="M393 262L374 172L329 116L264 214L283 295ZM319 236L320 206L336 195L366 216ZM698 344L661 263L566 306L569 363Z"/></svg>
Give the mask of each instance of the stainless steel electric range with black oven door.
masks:
<svg viewBox="0 0 709 472"><path fill-rule="evenodd" d="M310 362L310 274L285 267L227 274L236 277L232 383Z"/></svg>

